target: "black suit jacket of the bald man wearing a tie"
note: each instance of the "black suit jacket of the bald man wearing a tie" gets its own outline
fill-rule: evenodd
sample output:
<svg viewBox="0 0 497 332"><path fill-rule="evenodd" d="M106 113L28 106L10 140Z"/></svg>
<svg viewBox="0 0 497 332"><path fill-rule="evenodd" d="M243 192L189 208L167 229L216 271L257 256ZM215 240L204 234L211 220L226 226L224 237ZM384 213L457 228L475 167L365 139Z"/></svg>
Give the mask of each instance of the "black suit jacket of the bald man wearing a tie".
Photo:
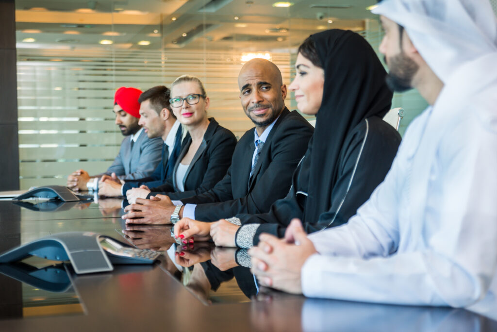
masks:
<svg viewBox="0 0 497 332"><path fill-rule="evenodd" d="M267 136L250 180L254 128L242 136L232 165L214 188L194 197L173 196L171 199L180 199L183 204L199 204L195 208L195 219L201 221L217 221L238 213L267 212L274 201L288 193L293 171L304 156L313 132L306 119L285 107Z"/></svg>

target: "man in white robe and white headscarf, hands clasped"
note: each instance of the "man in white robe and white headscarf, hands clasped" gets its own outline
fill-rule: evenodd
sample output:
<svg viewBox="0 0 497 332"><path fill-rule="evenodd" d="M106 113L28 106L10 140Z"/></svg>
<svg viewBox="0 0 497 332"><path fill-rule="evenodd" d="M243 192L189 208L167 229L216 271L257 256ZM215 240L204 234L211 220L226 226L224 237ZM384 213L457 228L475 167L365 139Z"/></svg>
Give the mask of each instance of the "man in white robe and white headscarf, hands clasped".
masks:
<svg viewBox="0 0 497 332"><path fill-rule="evenodd" d="M467 307L497 295L497 23L488 0L383 0L380 51L430 106L348 224L260 236L262 285L309 297ZM497 311L496 311L497 312ZM494 314L495 315L495 314Z"/></svg>

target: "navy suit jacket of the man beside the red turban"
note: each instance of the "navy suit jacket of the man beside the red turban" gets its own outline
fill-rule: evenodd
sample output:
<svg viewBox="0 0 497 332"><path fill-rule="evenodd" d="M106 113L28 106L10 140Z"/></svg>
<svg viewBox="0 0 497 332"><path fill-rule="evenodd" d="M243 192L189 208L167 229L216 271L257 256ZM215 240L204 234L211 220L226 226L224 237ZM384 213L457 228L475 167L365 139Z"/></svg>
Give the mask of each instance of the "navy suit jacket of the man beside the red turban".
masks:
<svg viewBox="0 0 497 332"><path fill-rule="evenodd" d="M162 145L162 159L152 173L148 177L143 177L136 180L125 180L123 185L123 193L126 194L131 188L138 188L142 184L145 184L149 188L157 187L166 182L166 179L172 175L172 170L178 159L179 152L181 150L181 136L182 136L182 126L178 127L176 135L174 137L174 147L172 149L171 155L169 156L169 151L167 151L166 143Z"/></svg>

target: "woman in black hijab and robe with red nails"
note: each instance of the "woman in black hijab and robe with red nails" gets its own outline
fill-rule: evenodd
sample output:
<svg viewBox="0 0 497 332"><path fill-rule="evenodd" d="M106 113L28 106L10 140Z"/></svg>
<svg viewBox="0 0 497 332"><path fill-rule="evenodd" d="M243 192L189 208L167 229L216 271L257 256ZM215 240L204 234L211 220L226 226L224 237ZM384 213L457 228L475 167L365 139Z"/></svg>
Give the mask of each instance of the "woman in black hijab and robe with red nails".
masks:
<svg viewBox="0 0 497 332"><path fill-rule="evenodd" d="M292 218L300 218L307 233L339 226L383 181L401 138L382 120L390 109L392 92L372 47L352 31L316 33L299 47L296 69L295 80L313 74L307 79L314 81L307 91L302 84L290 85L299 110L317 114L314 136L288 195L268 213L230 218L234 225L225 220L211 225L182 220L175 227L176 236L210 235L216 245L250 248L257 245L261 233L283 237ZM321 69L324 82L317 74ZM242 226L230 239L237 224Z"/></svg>

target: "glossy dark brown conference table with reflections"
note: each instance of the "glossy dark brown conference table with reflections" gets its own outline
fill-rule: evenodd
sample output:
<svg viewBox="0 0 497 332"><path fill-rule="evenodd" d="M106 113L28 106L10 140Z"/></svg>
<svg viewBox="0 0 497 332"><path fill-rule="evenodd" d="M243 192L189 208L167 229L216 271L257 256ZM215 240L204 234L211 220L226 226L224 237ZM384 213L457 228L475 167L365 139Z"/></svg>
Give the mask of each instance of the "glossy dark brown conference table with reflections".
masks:
<svg viewBox="0 0 497 332"><path fill-rule="evenodd" d="M154 264L89 274L34 256L0 264L0 331L497 331L496 320L465 309L308 299L260 287L237 259L244 252L176 245L167 225L127 226L121 204L0 201L0 253L73 231L164 253Z"/></svg>

